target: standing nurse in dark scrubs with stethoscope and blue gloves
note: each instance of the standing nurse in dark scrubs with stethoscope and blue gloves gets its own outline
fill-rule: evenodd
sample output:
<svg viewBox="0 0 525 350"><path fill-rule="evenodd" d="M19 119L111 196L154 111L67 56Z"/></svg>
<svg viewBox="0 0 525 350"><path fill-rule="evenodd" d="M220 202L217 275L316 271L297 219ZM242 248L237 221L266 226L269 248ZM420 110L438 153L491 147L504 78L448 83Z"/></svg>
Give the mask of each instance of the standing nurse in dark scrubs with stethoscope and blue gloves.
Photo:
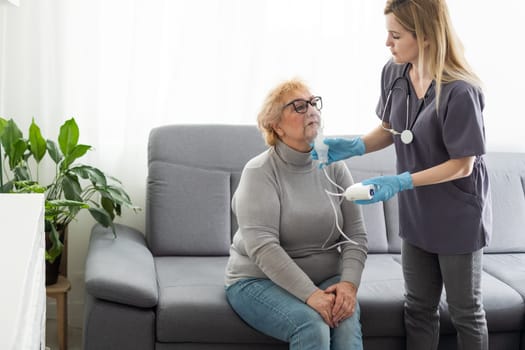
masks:
<svg viewBox="0 0 525 350"><path fill-rule="evenodd" d="M358 203L399 193L407 349L437 349L443 285L458 348L488 349L480 284L491 201L481 84L444 0L389 0L384 14L392 58L381 76L380 125L355 139L325 139L328 163L394 144L398 175L363 181L376 192Z"/></svg>

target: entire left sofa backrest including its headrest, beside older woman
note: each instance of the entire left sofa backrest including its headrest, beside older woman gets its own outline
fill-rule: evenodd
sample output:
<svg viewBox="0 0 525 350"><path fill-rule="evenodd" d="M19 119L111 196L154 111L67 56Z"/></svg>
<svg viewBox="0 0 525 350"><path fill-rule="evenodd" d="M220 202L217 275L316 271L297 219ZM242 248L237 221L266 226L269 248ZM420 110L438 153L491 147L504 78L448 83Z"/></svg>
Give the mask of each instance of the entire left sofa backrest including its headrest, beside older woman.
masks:
<svg viewBox="0 0 525 350"><path fill-rule="evenodd" d="M266 146L255 126L169 125L151 131L146 239L156 256L228 255L231 196Z"/></svg>

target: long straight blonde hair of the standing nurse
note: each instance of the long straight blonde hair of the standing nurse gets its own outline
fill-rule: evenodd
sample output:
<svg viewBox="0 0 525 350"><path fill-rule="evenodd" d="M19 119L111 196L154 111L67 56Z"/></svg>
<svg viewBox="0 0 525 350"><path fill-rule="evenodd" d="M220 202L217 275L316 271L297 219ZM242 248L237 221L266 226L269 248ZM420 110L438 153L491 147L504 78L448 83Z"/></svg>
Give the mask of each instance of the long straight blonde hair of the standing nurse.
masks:
<svg viewBox="0 0 525 350"><path fill-rule="evenodd" d="M426 68L435 79L436 104L443 83L463 80L481 89L482 83L467 63L463 45L452 27L445 0L387 0L384 14L390 13L415 36L419 73L422 75Z"/></svg>

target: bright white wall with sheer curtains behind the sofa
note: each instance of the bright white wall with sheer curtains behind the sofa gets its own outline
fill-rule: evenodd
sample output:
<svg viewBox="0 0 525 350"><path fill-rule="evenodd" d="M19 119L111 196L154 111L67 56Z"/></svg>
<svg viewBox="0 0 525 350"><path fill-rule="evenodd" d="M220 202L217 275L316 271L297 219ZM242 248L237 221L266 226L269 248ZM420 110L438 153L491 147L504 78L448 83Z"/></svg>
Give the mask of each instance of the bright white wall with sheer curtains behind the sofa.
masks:
<svg viewBox="0 0 525 350"><path fill-rule="evenodd" d="M486 89L490 151L525 152L519 0L449 0ZM325 133L377 125L388 59L382 1L20 0L0 4L0 116L55 138L74 116L87 161L144 207L149 130L168 123L253 124L265 93L292 76L323 96ZM119 219L144 228L144 213ZM88 215L70 234L73 324L80 325ZM52 308L50 308L52 311Z"/></svg>

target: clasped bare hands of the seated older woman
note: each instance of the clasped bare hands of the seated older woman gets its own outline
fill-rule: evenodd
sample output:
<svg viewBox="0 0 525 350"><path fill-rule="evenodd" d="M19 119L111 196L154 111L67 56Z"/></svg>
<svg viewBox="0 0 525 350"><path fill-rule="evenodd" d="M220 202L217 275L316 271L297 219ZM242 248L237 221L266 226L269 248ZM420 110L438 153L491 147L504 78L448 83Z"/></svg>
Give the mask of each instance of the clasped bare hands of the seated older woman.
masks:
<svg viewBox="0 0 525 350"><path fill-rule="evenodd" d="M349 282L339 282L325 290L318 289L306 303L321 315L331 328L339 326L355 312L357 288Z"/></svg>

